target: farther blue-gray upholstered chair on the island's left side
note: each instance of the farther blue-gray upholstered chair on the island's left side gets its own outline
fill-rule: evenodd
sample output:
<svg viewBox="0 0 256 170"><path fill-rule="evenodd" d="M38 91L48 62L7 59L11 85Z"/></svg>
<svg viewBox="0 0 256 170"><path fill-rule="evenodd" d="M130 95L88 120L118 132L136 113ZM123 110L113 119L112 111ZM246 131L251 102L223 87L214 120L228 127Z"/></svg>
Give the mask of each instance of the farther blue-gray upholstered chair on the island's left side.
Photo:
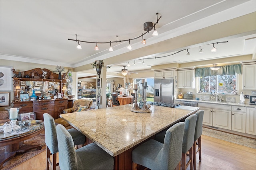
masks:
<svg viewBox="0 0 256 170"><path fill-rule="evenodd" d="M49 170L49 166L52 166L53 170L56 170L56 154L58 152L58 141L56 133L56 125L54 119L48 113L44 113L44 131L45 131L45 143L46 143L46 170ZM84 145L85 136L78 130L72 128L68 129L68 133L72 136L74 145ZM52 162L50 155L52 154Z"/></svg>

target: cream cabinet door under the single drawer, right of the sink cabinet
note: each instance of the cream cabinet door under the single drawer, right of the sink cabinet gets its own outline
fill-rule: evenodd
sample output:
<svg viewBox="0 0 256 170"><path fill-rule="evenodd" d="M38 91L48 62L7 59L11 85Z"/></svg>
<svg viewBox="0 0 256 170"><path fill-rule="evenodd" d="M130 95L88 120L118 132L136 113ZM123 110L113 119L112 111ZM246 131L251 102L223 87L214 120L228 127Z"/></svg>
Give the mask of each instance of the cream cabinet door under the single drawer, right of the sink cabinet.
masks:
<svg viewBox="0 0 256 170"><path fill-rule="evenodd" d="M238 112L232 111L232 131L242 132L245 133L246 127L246 113L245 112Z"/></svg>

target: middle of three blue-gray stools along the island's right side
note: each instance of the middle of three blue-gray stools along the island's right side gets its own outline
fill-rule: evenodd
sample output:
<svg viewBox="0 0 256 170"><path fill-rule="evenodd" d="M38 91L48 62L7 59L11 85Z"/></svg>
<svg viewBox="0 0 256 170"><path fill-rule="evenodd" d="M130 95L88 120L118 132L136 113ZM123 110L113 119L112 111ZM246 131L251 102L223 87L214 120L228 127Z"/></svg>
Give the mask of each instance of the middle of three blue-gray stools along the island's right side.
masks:
<svg viewBox="0 0 256 170"><path fill-rule="evenodd" d="M185 129L182 141L182 170L186 170L190 165L190 170L193 169L193 145L196 129L197 115L190 115L185 119ZM189 151L189 160L186 163L186 153Z"/></svg>

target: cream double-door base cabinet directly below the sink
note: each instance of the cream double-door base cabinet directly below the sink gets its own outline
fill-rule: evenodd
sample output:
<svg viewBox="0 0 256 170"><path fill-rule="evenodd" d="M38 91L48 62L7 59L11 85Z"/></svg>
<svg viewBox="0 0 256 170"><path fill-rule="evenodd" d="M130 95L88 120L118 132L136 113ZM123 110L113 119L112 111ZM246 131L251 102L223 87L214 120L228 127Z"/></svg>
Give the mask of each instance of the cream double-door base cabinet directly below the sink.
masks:
<svg viewBox="0 0 256 170"><path fill-rule="evenodd" d="M231 106L198 103L198 107L204 110L204 125L231 130Z"/></svg>

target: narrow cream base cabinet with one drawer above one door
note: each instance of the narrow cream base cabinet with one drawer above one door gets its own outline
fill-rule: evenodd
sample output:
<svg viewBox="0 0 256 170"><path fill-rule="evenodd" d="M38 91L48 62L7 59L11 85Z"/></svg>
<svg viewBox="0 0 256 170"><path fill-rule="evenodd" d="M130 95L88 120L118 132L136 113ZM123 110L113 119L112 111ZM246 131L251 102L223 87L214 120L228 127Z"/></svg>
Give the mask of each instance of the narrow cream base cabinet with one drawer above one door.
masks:
<svg viewBox="0 0 256 170"><path fill-rule="evenodd" d="M246 132L246 107L232 106L231 130Z"/></svg>

